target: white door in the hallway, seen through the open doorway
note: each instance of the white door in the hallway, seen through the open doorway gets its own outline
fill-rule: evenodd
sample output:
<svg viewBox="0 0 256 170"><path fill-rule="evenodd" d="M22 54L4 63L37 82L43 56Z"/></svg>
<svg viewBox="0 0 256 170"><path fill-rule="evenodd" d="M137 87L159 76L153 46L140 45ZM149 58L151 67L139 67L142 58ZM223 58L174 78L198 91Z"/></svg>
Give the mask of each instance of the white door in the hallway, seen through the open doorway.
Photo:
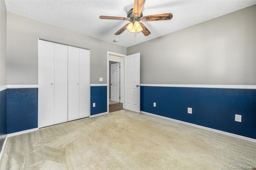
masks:
<svg viewBox="0 0 256 170"><path fill-rule="evenodd" d="M120 63L111 64L111 100L120 102Z"/></svg>

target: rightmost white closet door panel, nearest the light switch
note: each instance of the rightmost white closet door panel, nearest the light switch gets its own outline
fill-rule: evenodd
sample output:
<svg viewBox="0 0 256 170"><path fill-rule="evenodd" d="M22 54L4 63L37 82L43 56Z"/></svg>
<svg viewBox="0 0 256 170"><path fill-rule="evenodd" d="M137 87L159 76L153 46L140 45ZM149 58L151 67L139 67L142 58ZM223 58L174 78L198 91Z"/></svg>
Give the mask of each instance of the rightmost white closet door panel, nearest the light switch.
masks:
<svg viewBox="0 0 256 170"><path fill-rule="evenodd" d="M80 48L80 119L90 115L90 50Z"/></svg>

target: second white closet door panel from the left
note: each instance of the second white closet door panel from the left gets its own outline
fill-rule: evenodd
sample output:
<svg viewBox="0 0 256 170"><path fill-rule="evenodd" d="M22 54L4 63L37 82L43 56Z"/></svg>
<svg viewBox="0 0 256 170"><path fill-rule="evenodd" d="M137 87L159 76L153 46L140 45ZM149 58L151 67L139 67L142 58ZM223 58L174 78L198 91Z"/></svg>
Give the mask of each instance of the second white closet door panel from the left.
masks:
<svg viewBox="0 0 256 170"><path fill-rule="evenodd" d="M68 45L54 43L54 124L68 121Z"/></svg>

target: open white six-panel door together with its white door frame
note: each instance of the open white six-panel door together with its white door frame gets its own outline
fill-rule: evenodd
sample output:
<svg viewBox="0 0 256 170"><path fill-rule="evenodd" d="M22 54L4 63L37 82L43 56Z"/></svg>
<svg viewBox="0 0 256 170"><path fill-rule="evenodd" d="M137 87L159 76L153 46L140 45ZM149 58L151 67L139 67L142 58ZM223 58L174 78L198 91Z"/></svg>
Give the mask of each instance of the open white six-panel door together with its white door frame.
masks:
<svg viewBox="0 0 256 170"><path fill-rule="evenodd" d="M107 113L110 110L110 61L120 64L120 109L140 113L140 53L123 55L107 51ZM125 63L125 65L124 65Z"/></svg>

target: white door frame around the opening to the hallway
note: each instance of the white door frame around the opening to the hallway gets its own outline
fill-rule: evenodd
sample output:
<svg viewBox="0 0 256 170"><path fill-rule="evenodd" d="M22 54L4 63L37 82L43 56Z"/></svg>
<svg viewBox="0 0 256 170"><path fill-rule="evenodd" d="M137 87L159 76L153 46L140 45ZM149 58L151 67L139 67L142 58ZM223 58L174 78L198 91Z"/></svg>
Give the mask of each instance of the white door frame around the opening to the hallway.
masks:
<svg viewBox="0 0 256 170"><path fill-rule="evenodd" d="M111 52L111 51L107 51L107 113L109 111L109 61L114 61L114 62L117 62L117 63L120 63L120 82L121 82L121 85L120 85L120 102L121 103L124 103L124 62L123 61L118 61L118 60L114 60L114 59L109 59L109 56L108 55L116 55L118 57L124 57L126 55L124 54L119 54L119 53L114 53L114 52ZM123 109L124 109L124 105L123 105Z"/></svg>

